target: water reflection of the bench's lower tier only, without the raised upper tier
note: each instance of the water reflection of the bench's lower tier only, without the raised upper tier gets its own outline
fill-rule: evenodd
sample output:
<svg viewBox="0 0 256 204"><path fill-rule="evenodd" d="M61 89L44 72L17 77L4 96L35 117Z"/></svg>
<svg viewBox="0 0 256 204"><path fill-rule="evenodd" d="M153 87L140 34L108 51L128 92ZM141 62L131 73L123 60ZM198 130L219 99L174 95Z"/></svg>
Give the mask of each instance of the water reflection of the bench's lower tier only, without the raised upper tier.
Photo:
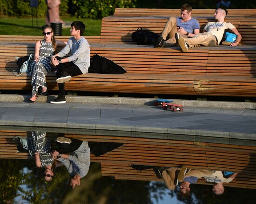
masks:
<svg viewBox="0 0 256 204"><path fill-rule="evenodd" d="M18 141L14 135L29 136L25 131L0 130L0 156L8 158L27 158L27 154L15 153ZM57 134L47 134L53 138ZM153 139L150 137L129 137L95 134L65 134L66 137L86 141L121 142L122 147L110 153L94 157L94 162L141 164L153 166L187 165L190 168L216 169L223 171L256 174L256 147L194 142L182 140ZM55 143L53 142L53 145ZM21 157L26 155L25 157Z"/></svg>

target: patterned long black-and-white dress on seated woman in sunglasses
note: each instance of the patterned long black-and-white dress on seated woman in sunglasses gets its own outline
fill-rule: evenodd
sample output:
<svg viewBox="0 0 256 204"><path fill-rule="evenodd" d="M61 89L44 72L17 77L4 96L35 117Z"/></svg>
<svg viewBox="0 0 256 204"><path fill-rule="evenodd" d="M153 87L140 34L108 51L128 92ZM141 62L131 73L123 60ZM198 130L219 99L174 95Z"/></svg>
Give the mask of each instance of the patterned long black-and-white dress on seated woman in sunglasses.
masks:
<svg viewBox="0 0 256 204"><path fill-rule="evenodd" d="M41 47L39 50L39 60L38 62L33 61L30 66L31 75L31 86L32 86L32 96L38 94L39 87L46 86L46 75L51 70L51 57L54 53L53 44L47 43L45 40L41 40Z"/></svg>

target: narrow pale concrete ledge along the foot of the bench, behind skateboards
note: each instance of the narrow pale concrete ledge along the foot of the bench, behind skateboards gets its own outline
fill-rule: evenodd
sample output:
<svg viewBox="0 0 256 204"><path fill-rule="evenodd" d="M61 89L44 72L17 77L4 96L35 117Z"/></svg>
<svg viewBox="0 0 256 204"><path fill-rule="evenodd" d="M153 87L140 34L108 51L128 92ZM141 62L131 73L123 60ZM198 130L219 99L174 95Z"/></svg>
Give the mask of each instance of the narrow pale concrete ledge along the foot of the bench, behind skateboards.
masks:
<svg viewBox="0 0 256 204"><path fill-rule="evenodd" d="M28 95L0 95L0 102L24 102L29 99ZM50 102L55 96L39 96L37 102ZM101 103L101 104L145 104L153 105L153 98L126 98L126 97L99 97L99 96L66 96L67 102L77 103ZM220 102L220 101L195 101L172 99L175 103L183 106L205 108L249 108L256 109L255 102Z"/></svg>

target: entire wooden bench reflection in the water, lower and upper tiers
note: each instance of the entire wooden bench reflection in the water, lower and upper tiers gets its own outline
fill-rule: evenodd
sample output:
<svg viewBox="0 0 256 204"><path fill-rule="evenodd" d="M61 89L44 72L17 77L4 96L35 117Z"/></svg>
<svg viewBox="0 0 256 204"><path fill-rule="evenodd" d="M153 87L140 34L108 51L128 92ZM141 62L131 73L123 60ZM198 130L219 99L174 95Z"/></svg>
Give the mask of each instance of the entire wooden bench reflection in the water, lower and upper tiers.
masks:
<svg viewBox="0 0 256 204"><path fill-rule="evenodd" d="M28 156L27 153L15 153L18 142L12 140L14 135L29 136L31 134L18 130L0 130L0 158L34 159L34 156ZM56 135L47 133L47 137L53 141L53 148L56 147L54 143ZM187 165L189 168L239 172L236 179L225 185L256 188L256 165L254 164L256 147L104 134L65 134L65 136L86 141L125 143L99 157L91 154L91 162L101 163L103 176L113 176L116 179L161 181L156 178L153 170L137 172L130 165ZM197 183L212 185L206 183L204 179L199 179Z"/></svg>

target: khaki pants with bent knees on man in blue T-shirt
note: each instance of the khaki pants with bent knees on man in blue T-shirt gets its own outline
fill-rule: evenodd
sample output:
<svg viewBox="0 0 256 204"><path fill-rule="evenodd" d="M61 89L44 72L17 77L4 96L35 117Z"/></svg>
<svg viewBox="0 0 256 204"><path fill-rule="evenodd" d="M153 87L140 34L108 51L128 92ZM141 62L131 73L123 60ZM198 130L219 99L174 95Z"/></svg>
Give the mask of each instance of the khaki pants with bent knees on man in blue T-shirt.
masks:
<svg viewBox="0 0 256 204"><path fill-rule="evenodd" d="M177 32L177 21L175 17L171 17L166 22L163 31L162 31L162 38L165 40L165 44L173 45L176 43L175 40L175 33ZM188 38L187 35L179 33L180 37Z"/></svg>

